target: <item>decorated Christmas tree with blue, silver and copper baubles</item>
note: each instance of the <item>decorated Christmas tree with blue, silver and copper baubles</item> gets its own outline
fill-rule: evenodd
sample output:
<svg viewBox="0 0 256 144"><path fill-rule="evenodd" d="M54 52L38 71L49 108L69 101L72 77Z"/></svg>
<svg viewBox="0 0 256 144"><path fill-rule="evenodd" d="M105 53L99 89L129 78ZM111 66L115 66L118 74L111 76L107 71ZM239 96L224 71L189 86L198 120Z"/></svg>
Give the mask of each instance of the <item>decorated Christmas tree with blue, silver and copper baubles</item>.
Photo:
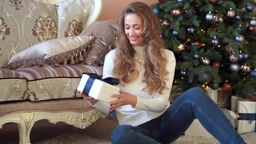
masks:
<svg viewBox="0 0 256 144"><path fill-rule="evenodd" d="M256 95L256 13L253 0L158 0L152 5L174 52L176 90L223 88Z"/></svg>

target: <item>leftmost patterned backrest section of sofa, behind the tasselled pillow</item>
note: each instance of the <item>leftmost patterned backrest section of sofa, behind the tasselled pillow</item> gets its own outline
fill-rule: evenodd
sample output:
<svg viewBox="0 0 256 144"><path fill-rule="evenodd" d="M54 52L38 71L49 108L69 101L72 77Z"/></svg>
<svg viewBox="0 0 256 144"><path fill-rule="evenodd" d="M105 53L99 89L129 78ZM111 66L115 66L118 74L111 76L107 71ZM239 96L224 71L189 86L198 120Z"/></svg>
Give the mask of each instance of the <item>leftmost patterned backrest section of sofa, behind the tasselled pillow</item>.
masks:
<svg viewBox="0 0 256 144"><path fill-rule="evenodd" d="M34 0L0 1L0 67L18 52L56 38L54 5Z"/></svg>

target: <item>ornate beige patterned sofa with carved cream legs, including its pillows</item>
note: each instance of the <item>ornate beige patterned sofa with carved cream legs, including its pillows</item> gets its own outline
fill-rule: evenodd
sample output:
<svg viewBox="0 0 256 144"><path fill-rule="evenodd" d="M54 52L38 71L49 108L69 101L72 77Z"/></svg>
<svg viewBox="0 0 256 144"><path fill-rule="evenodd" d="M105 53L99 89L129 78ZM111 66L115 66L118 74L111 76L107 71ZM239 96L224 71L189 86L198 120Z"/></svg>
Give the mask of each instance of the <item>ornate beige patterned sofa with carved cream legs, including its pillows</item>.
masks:
<svg viewBox="0 0 256 144"><path fill-rule="evenodd" d="M107 116L76 89L115 48L117 20L101 12L102 0L0 1L0 128L16 123L20 144L42 119L86 128Z"/></svg>

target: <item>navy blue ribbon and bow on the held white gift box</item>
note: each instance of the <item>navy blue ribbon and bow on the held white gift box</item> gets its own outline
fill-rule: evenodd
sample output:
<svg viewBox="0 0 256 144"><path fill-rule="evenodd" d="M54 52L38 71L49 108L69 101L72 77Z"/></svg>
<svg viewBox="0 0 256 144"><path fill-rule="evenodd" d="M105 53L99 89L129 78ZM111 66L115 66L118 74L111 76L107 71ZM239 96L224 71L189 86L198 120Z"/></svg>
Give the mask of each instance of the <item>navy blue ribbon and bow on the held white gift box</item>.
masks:
<svg viewBox="0 0 256 144"><path fill-rule="evenodd" d="M89 79L87 80L85 87L83 89L83 93L86 95L89 95L89 92L92 88L92 84L95 81L95 79L101 80L103 82L107 82L110 85L119 85L119 79L116 79L116 78L108 77L108 78L102 79L102 77L100 75L95 74L95 73L83 72L82 74L89 75ZM112 116L115 118L115 110L109 111L108 116Z"/></svg>

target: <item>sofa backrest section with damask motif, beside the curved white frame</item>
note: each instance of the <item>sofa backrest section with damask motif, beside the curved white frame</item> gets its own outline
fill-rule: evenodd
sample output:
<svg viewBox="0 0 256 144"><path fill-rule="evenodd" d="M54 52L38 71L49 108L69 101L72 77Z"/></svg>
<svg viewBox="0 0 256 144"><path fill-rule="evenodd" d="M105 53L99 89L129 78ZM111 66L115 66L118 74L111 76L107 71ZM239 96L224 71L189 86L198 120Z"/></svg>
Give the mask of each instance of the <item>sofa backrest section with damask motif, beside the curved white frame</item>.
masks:
<svg viewBox="0 0 256 144"><path fill-rule="evenodd" d="M57 4L58 38L78 36L93 8L91 0L66 0Z"/></svg>

